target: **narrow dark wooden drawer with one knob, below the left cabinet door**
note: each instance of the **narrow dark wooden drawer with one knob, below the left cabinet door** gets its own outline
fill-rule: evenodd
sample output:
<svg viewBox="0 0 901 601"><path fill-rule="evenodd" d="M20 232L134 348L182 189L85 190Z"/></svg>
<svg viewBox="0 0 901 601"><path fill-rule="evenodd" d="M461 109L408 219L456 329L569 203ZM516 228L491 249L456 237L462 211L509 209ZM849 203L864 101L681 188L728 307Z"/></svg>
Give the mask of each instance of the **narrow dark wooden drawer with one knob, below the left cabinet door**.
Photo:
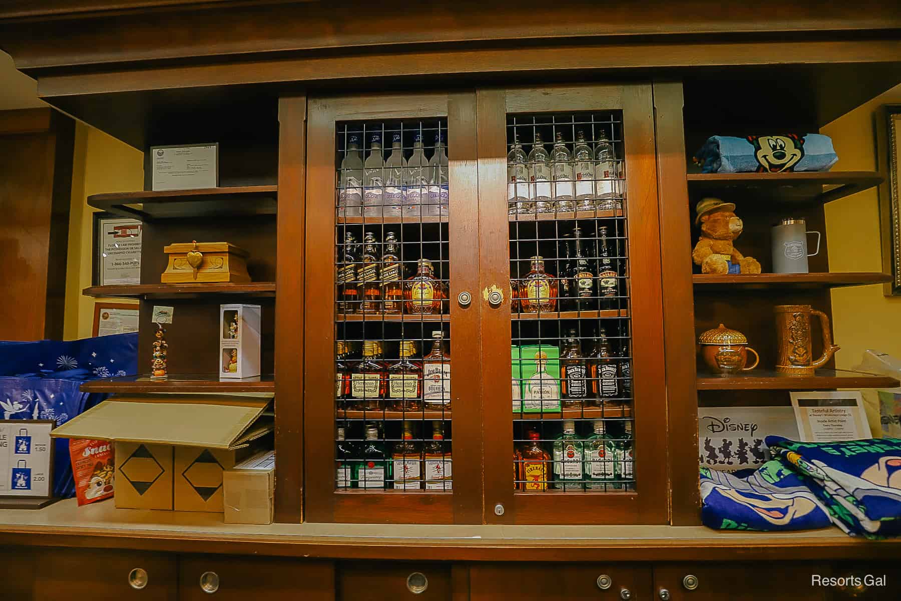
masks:
<svg viewBox="0 0 901 601"><path fill-rule="evenodd" d="M407 587L422 586L414 594ZM463 572L465 576L465 572ZM345 561L338 568L338 598L343 601L450 601L453 594L451 564L428 561Z"/></svg>

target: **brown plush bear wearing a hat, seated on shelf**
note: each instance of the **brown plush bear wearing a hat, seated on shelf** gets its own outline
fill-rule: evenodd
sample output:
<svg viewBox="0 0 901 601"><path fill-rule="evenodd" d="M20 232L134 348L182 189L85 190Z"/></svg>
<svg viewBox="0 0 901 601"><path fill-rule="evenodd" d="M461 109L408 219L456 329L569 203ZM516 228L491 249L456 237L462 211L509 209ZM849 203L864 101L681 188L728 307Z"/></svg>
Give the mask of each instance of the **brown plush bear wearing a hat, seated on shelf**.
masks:
<svg viewBox="0 0 901 601"><path fill-rule="evenodd" d="M691 253L701 273L760 273L760 263L745 257L733 240L742 233L742 220L733 211L733 203L719 198L704 198L696 206L695 223L701 224L701 237Z"/></svg>

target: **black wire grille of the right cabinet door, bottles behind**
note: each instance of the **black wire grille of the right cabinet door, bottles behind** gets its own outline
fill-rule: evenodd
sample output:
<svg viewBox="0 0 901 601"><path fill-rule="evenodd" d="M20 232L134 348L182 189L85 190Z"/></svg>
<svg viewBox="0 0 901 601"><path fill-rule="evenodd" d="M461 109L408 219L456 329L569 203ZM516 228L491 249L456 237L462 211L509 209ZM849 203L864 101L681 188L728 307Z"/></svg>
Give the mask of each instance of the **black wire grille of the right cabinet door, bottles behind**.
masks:
<svg viewBox="0 0 901 601"><path fill-rule="evenodd" d="M635 490L622 112L507 118L514 488Z"/></svg>

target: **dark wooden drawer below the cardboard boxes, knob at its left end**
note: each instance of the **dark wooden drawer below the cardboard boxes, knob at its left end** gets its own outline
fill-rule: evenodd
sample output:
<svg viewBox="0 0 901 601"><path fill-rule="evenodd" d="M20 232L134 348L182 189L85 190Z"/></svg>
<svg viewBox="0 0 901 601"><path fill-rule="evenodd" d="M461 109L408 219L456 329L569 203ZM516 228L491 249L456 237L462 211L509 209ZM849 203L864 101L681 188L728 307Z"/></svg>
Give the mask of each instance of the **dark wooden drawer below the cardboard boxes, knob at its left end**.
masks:
<svg viewBox="0 0 901 601"><path fill-rule="evenodd" d="M214 597L209 594L215 593ZM178 561L178 601L334 599L331 561L183 555Z"/></svg>

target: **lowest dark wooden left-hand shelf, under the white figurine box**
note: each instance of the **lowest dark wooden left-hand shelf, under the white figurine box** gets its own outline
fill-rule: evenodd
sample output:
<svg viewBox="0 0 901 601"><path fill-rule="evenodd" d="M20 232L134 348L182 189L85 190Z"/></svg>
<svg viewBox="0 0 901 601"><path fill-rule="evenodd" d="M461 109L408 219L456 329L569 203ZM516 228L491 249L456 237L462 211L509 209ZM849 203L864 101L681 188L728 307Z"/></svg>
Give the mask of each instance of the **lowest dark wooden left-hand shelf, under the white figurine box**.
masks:
<svg viewBox="0 0 901 601"><path fill-rule="evenodd" d="M164 380L150 376L124 376L90 380L81 385L82 392L146 394L155 392L264 392L274 393L275 377L259 376L244 379L219 379L218 374L173 374Z"/></svg>

